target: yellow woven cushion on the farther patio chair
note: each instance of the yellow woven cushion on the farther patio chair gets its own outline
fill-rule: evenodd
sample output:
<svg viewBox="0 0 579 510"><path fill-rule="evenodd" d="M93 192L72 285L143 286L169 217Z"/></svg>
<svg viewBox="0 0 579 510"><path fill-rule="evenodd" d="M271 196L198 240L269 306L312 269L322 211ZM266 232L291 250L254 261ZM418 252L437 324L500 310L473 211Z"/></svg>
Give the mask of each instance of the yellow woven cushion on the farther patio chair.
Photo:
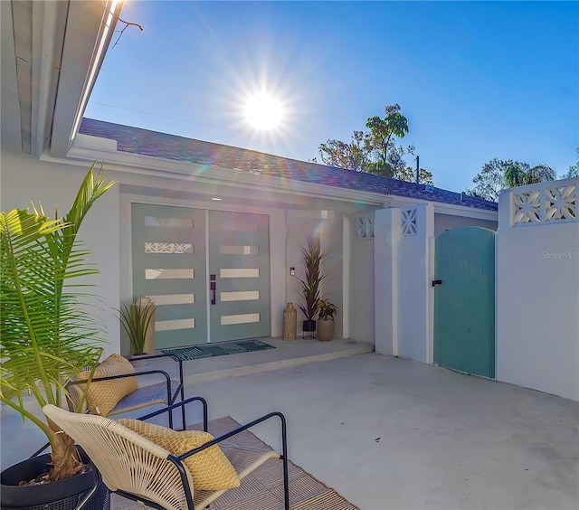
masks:
<svg viewBox="0 0 579 510"><path fill-rule="evenodd" d="M120 354L110 354L95 371L93 379L98 377L109 377L110 375L121 375L123 373L135 373L135 368ZM81 372L77 375L77 380L83 381L89 378L90 372ZM84 390L84 384L79 384ZM129 393L135 392L138 388L137 377L124 377L122 379L112 379L110 381L90 382L87 393L87 406L91 414L108 416L119 401Z"/></svg>

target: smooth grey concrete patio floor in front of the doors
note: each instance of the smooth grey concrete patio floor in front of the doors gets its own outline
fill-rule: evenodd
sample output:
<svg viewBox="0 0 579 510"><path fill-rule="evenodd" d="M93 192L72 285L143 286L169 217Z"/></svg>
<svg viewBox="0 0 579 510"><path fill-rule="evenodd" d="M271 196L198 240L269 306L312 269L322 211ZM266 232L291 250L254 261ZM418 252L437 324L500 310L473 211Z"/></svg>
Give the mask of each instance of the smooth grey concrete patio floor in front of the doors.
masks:
<svg viewBox="0 0 579 510"><path fill-rule="evenodd" d="M289 458L363 510L579 507L577 402L380 354L331 359L347 342L185 362L186 396L204 396L210 419L284 412ZM330 359L306 364L309 349ZM207 361L247 373L217 378L226 367ZM289 366L260 368L276 361ZM42 439L14 418L2 415L3 466ZM279 448L276 426L254 432Z"/></svg>

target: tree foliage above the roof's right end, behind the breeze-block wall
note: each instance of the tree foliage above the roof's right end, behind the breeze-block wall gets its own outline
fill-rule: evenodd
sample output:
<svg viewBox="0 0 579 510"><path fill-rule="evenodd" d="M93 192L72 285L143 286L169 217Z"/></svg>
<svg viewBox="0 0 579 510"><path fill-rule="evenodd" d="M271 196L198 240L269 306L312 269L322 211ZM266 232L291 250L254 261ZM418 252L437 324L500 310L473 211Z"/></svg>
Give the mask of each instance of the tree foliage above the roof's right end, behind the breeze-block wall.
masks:
<svg viewBox="0 0 579 510"><path fill-rule="evenodd" d="M472 179L475 187L467 190L467 193L497 202L498 194L503 189L555 179L556 172L548 165L531 166L512 159L494 157L489 163L485 163L479 174Z"/></svg>

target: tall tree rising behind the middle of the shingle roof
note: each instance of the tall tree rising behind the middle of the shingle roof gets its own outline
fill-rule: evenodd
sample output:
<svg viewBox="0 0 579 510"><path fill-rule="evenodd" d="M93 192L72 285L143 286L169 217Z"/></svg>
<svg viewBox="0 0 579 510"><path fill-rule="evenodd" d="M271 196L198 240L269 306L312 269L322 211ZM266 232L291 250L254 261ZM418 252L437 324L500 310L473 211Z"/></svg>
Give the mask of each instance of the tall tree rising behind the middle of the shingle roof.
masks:
<svg viewBox="0 0 579 510"><path fill-rule="evenodd" d="M407 171L403 156L413 154L414 146L396 145L396 138L408 133L408 120L400 113L400 105L384 108L384 118L367 119L365 131L354 131L350 142L330 139L318 147L325 165L367 172L369 174L413 181L414 174ZM313 161L316 161L315 159ZM432 174L424 171L421 182L432 184Z"/></svg>

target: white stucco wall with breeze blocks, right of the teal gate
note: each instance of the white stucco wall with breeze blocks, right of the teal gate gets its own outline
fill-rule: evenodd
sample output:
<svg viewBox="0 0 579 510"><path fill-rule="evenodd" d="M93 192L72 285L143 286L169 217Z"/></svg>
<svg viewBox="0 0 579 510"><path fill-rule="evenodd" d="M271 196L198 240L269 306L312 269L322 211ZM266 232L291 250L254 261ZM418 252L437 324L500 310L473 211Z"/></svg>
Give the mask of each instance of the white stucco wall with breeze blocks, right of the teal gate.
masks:
<svg viewBox="0 0 579 510"><path fill-rule="evenodd" d="M549 218L545 211L546 190L556 187L560 195L572 186L576 215L579 179L500 194L497 379L579 401L579 220L557 219L556 212ZM540 222L514 224L516 214L525 213L516 196L527 196L523 207Z"/></svg>

